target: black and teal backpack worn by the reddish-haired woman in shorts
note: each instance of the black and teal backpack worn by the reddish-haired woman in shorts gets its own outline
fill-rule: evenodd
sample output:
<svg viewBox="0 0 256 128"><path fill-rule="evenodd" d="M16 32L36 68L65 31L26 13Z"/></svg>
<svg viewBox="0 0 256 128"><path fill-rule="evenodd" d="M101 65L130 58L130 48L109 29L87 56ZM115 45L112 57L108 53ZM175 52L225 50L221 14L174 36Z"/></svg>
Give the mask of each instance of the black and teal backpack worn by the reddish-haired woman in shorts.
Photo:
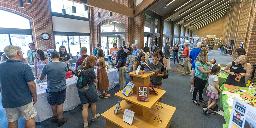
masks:
<svg viewBox="0 0 256 128"><path fill-rule="evenodd" d="M85 71L87 68L80 68L78 69L78 77L77 77L77 82L76 82L76 88L78 91L85 92L89 89L86 76L85 76Z"/></svg>

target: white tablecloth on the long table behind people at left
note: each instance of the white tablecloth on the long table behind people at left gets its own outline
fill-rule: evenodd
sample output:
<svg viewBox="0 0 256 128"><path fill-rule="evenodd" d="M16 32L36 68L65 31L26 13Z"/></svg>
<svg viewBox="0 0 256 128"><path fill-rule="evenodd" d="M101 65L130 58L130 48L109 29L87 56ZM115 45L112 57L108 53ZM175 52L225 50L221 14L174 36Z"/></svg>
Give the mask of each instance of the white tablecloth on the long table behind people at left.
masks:
<svg viewBox="0 0 256 128"><path fill-rule="evenodd" d="M109 69L107 72L108 80L109 80L109 90L114 88L118 83L118 77L116 73L116 69ZM68 78L67 81L67 88L66 88L66 100L63 103L63 111L69 111L74 109L76 106L81 104L78 91L76 89L76 76L73 75L72 78ZM47 82L40 83L40 84L47 84ZM46 90L39 90L39 84L37 84L37 103L34 105L37 110L37 115L34 117L36 122L42 122L50 117L53 116L52 114L52 107L48 103L46 98ZM95 83L97 85L97 83ZM99 91L100 95L100 91Z"/></svg>

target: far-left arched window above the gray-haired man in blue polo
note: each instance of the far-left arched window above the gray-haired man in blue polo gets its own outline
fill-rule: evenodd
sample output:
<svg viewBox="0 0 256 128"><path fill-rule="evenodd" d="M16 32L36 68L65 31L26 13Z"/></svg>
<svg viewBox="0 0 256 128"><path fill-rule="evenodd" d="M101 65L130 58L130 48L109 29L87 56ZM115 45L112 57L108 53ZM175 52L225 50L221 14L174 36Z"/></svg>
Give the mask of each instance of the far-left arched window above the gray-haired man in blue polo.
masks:
<svg viewBox="0 0 256 128"><path fill-rule="evenodd" d="M4 17L0 20L0 51L7 45L17 45L27 54L28 43L33 42L30 19L1 9L0 17Z"/></svg>

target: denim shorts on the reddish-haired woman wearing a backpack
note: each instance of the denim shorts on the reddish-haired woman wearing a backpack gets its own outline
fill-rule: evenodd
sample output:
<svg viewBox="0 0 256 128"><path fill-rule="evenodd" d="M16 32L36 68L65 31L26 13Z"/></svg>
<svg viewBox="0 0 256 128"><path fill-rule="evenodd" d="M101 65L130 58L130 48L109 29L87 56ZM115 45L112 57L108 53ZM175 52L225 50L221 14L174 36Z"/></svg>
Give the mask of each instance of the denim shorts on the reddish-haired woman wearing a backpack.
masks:
<svg viewBox="0 0 256 128"><path fill-rule="evenodd" d="M95 84L88 85L90 88L86 92L78 91L82 104L95 103L100 100Z"/></svg>

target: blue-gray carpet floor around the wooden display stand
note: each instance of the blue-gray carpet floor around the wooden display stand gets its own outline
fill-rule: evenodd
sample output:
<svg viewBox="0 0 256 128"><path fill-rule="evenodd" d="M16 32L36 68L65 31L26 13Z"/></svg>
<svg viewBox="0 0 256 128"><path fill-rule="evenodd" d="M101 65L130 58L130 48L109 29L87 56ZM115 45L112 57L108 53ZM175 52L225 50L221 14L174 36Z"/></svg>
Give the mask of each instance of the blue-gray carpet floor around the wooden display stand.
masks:
<svg viewBox="0 0 256 128"><path fill-rule="evenodd" d="M169 78L163 79L163 90L167 92L163 96L162 103L176 107L176 111L172 117L172 122L170 128L221 128L225 124L224 117L216 114L203 114L202 103L200 106L195 105L191 102L192 94L190 91L190 78L191 75L180 76L179 73L169 72ZM126 76L126 83L129 81L129 76ZM110 98L104 99L100 98L100 101L96 102L96 112L103 113L107 111L112 106L116 105L117 101L121 101L121 98L114 96L116 91L119 90L119 85L117 85L112 90L108 91L112 96ZM209 97L205 93L206 88L204 89L204 100L208 100ZM1 95L0 95L1 98ZM198 96L197 96L198 99ZM217 103L219 105L219 101ZM223 109L220 108L222 111ZM100 117L96 121L92 122L91 112L89 108L89 128L105 128L106 119ZM0 104L0 128L7 127L7 119L5 117L5 110ZM82 110L81 104L75 109L70 111L63 112L63 116L68 117L68 121L61 126L62 128L82 128L83 119L82 119ZM165 119L163 119L165 121ZM19 128L24 128L24 120L20 118L18 120ZM47 119L42 122L38 122L36 125L37 128L53 128L57 127L56 123Z"/></svg>

